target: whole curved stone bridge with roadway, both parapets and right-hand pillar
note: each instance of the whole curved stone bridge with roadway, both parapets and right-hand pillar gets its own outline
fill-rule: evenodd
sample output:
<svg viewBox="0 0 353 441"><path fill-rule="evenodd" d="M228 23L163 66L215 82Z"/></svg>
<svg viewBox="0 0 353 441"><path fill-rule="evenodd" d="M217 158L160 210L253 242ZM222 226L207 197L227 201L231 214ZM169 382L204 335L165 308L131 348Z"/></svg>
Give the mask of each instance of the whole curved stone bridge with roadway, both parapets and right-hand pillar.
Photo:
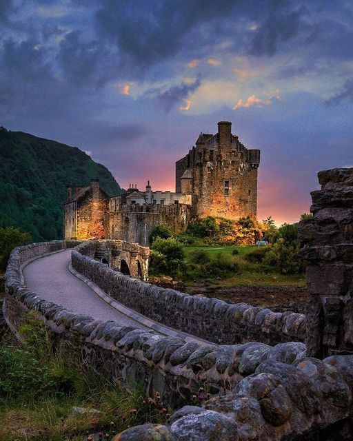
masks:
<svg viewBox="0 0 353 441"><path fill-rule="evenodd" d="M119 441L352 440L353 169L321 172L319 181L314 216L300 228L312 294L306 317L130 278L112 269L119 265L110 241L56 241L12 252L3 306L8 325L16 332L23 313L37 311L50 332L81 347L94 371L142 382L179 409L165 426L132 427ZM109 308L87 297L75 276ZM111 316L111 308L123 312ZM200 387L210 400L185 405Z"/></svg>

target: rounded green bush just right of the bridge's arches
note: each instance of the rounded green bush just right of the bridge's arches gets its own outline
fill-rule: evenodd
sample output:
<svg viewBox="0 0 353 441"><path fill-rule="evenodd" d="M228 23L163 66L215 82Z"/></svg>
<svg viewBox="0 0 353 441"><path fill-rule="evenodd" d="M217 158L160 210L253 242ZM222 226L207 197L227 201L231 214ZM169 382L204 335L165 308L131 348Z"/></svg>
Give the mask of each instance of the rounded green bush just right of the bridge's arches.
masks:
<svg viewBox="0 0 353 441"><path fill-rule="evenodd" d="M175 275L184 266L183 245L176 238L157 237L152 243L151 267L166 275ZM154 266L157 265L157 266Z"/></svg>

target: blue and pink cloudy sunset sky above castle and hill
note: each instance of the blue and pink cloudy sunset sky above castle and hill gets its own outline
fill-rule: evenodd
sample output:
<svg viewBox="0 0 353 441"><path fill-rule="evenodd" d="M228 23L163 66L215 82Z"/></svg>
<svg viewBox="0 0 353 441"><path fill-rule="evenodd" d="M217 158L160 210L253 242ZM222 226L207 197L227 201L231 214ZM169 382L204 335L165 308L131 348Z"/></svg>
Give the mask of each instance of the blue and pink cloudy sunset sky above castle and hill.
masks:
<svg viewBox="0 0 353 441"><path fill-rule="evenodd" d="M258 218L353 167L351 0L0 0L0 125L174 191L200 132L261 149Z"/></svg>

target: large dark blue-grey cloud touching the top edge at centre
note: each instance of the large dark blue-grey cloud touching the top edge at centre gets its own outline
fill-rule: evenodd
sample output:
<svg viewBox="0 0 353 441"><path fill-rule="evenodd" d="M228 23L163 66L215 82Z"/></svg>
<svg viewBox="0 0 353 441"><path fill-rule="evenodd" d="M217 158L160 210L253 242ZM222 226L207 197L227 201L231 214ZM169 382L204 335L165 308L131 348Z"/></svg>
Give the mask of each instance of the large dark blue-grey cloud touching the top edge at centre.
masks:
<svg viewBox="0 0 353 441"><path fill-rule="evenodd" d="M123 64L145 68L177 54L191 28L228 16L234 6L233 0L105 0L97 23L101 36L118 46Z"/></svg>

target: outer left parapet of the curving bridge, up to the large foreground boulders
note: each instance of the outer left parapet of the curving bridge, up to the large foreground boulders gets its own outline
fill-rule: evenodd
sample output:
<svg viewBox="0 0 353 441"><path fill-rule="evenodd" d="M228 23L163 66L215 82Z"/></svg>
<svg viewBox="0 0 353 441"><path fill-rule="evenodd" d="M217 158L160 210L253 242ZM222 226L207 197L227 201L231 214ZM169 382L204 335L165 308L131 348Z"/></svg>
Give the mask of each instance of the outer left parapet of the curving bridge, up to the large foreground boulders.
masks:
<svg viewBox="0 0 353 441"><path fill-rule="evenodd" d="M232 390L245 376L254 373L263 360L292 362L305 351L301 342L271 347L259 342L245 345L209 345L161 336L154 331L94 320L37 296L23 285L21 266L33 258L72 247L76 243L55 241L26 245L12 251L6 270L4 313L12 331L26 321L26 311L37 311L41 320L59 338L81 345L81 357L97 373L123 382L142 382L159 391L173 409L192 402L203 387L210 396ZM93 243L81 251L91 254ZM73 250L102 274L106 265ZM139 280L132 283L141 283Z"/></svg>

